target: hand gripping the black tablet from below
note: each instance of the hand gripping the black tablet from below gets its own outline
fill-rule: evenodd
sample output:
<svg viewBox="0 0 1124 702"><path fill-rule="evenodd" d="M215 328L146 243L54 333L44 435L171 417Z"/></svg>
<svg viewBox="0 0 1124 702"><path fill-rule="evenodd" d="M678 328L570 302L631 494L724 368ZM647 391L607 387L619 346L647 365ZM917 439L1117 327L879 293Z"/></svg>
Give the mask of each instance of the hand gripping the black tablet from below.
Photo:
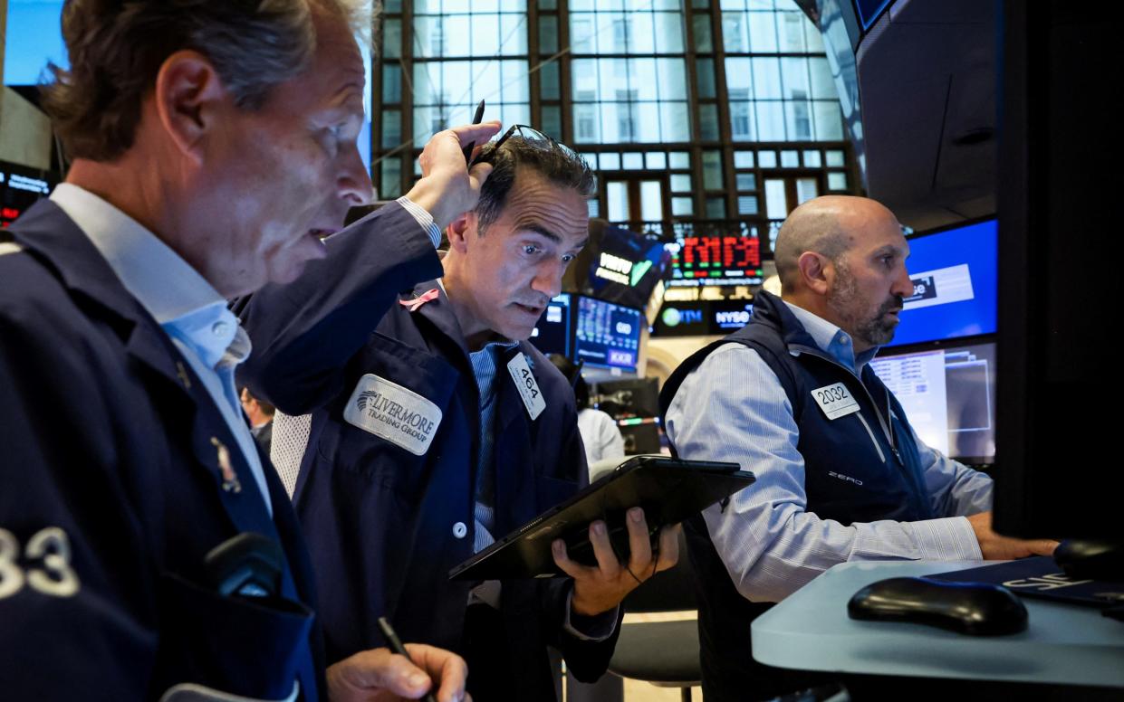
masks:
<svg viewBox="0 0 1124 702"><path fill-rule="evenodd" d="M593 546L597 566L571 560L562 539L551 545L554 563L573 578L571 607L574 613L593 617L611 610L642 582L679 560L679 525L660 529L659 548L653 557L644 510L638 507L628 510L626 521L631 551L627 564L622 564L613 551L604 521L589 525L589 543Z"/></svg>

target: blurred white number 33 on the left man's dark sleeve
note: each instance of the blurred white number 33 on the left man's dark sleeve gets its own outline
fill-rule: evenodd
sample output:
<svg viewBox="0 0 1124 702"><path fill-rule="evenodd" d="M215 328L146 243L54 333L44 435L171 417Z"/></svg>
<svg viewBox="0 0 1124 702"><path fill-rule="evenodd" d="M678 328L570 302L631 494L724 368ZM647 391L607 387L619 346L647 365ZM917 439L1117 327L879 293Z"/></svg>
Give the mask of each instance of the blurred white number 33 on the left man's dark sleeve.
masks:
<svg viewBox="0 0 1124 702"><path fill-rule="evenodd" d="M0 529L0 600L10 598L25 585L54 598L69 598L81 587L78 573L71 567L70 539L58 527L37 531L24 549L29 563L19 563L19 541L7 529Z"/></svg>

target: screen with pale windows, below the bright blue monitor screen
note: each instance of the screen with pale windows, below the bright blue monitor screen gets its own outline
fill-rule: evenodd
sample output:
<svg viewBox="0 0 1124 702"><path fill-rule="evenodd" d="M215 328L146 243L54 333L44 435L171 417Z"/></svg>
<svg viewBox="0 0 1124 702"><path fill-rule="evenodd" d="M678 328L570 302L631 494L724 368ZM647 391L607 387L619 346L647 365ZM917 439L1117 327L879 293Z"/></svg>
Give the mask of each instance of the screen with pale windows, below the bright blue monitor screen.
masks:
<svg viewBox="0 0 1124 702"><path fill-rule="evenodd" d="M925 444L962 463L995 463L995 341L879 354L886 383Z"/></svg>

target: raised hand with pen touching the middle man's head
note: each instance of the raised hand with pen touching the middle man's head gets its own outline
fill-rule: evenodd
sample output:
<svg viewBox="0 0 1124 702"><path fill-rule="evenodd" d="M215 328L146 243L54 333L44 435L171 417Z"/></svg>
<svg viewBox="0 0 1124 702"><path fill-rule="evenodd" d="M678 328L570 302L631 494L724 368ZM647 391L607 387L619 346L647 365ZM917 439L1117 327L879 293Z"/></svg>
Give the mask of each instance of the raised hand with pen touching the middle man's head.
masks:
<svg viewBox="0 0 1124 702"><path fill-rule="evenodd" d="M464 163L464 147L473 142L483 144L498 131L498 120L454 127L435 134L422 149L422 179L406 197L433 215L439 229L477 206L480 188L491 173L487 163L478 163L470 171Z"/></svg>

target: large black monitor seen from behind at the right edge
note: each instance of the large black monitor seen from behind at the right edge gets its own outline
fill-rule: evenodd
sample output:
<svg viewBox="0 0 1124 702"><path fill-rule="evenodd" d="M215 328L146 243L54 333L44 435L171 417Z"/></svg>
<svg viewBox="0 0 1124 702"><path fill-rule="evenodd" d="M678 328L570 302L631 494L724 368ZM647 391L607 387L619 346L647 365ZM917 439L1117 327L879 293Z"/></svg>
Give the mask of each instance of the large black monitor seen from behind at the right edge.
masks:
<svg viewBox="0 0 1124 702"><path fill-rule="evenodd" d="M1117 382L1118 30L1072 2L1004 2L995 529L1124 540Z"/></svg>

